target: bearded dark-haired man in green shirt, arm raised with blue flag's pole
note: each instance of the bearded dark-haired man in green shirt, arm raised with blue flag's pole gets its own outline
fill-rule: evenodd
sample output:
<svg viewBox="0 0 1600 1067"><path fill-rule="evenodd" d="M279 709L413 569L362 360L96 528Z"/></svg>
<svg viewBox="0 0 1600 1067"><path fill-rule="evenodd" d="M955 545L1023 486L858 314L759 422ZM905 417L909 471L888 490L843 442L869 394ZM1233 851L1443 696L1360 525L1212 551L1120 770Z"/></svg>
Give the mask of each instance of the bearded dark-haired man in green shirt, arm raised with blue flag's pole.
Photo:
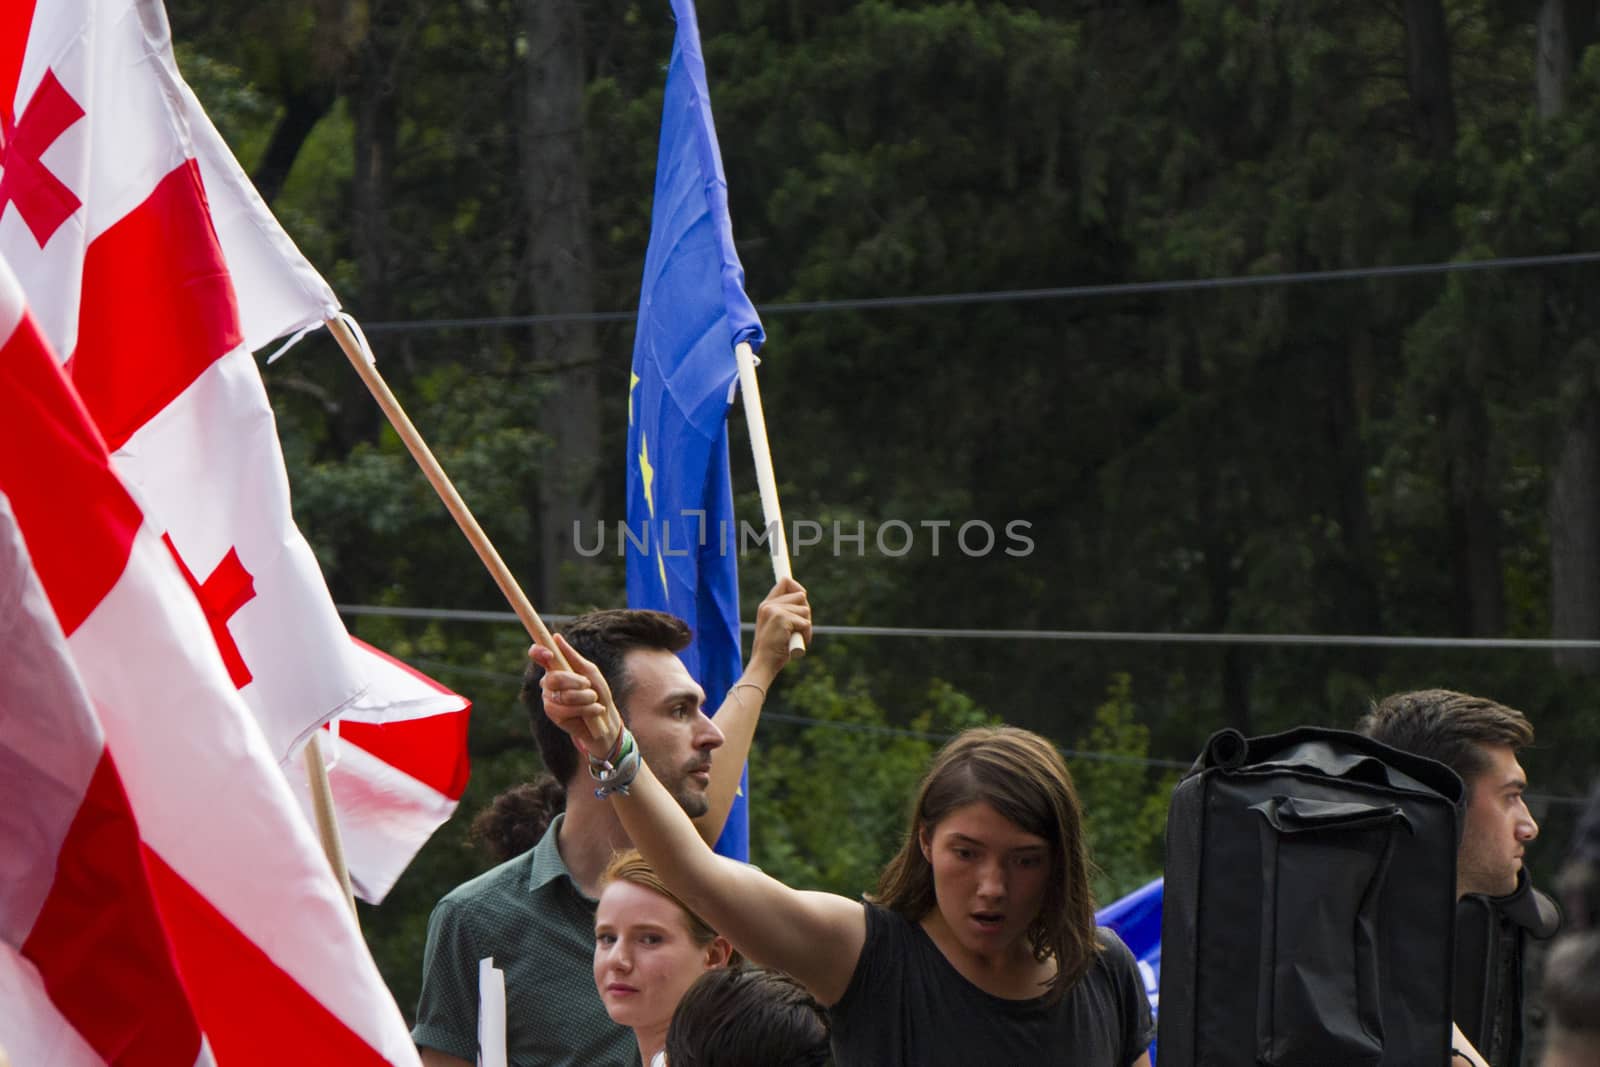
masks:
<svg viewBox="0 0 1600 1067"><path fill-rule="evenodd" d="M682 619L661 611L594 611L563 632L600 667L640 757L696 821L701 837L715 841L766 689L789 662L789 635L811 640L805 589L784 579L762 601L750 661L715 720L702 710L706 694L675 654L690 643ZM506 976L512 1067L637 1059L632 1032L611 1022L594 985L595 883L611 854L630 841L611 805L595 797L587 757L544 715L542 673L536 664L528 667L522 701L539 757L565 787L565 811L530 813L530 803L560 792L523 790L514 806L523 840L491 840L491 849L512 857L456 886L434 909L411 1030L424 1067L470 1067L475 1059L478 961L490 957ZM546 829L523 851L530 829L539 827Z"/></svg>

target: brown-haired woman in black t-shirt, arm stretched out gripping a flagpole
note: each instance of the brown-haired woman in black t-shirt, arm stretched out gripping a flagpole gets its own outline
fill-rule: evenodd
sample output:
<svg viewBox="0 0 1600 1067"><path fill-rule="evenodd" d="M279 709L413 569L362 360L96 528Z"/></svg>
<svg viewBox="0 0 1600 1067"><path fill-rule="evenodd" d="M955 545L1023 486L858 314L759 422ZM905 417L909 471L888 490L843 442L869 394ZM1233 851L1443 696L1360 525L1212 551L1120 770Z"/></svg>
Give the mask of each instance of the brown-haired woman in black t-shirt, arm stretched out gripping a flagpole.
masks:
<svg viewBox="0 0 1600 1067"><path fill-rule="evenodd" d="M928 771L875 897L797 891L701 841L637 758L605 680L562 653L571 672L531 653L546 713L590 753L662 883L829 1008L840 1067L1147 1067L1144 984L1126 945L1094 926L1078 800L1048 741L963 733Z"/></svg>

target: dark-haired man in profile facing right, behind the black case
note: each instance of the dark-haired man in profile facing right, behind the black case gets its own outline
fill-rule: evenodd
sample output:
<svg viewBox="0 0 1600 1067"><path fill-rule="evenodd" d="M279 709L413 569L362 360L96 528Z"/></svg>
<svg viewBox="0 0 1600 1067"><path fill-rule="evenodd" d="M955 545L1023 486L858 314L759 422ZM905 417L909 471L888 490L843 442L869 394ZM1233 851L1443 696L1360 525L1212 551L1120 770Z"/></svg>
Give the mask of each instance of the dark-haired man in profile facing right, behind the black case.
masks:
<svg viewBox="0 0 1600 1067"><path fill-rule="evenodd" d="M1395 693L1357 731L1438 760L1466 784L1456 853L1456 1024L1491 1067L1523 1054L1523 958L1530 939L1555 934L1560 910L1528 881L1523 853L1539 824L1523 800L1517 752L1533 725L1517 709L1453 689Z"/></svg>

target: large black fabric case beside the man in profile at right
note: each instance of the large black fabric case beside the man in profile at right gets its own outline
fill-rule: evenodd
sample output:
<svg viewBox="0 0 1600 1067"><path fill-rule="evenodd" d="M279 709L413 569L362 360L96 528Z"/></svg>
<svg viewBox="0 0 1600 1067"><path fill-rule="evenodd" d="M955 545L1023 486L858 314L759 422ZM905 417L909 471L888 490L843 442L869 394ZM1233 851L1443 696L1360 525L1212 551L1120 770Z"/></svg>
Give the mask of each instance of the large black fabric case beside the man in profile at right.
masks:
<svg viewBox="0 0 1600 1067"><path fill-rule="evenodd" d="M1461 797L1342 729L1214 734L1166 817L1162 1067L1445 1067Z"/></svg>

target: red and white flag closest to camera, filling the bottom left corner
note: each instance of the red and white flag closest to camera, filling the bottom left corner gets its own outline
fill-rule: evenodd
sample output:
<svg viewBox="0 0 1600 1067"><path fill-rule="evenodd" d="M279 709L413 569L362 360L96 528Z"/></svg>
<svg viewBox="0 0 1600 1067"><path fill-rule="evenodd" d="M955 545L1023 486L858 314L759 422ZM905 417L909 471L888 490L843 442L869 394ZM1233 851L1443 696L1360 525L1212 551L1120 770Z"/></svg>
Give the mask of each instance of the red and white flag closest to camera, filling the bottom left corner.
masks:
<svg viewBox="0 0 1600 1067"><path fill-rule="evenodd" d="M418 1064L210 627L0 261L0 1041Z"/></svg>

